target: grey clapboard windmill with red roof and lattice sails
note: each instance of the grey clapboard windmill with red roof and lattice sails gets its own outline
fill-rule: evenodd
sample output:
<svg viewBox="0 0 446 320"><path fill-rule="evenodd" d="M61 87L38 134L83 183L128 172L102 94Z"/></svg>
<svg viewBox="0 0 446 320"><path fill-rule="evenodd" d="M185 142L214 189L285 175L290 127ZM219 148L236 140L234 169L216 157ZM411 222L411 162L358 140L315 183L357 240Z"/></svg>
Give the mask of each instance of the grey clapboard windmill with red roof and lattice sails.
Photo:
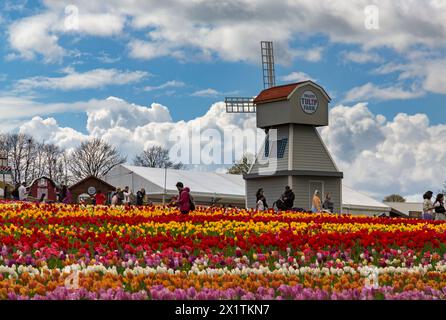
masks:
<svg viewBox="0 0 446 320"><path fill-rule="evenodd" d="M342 178L317 127L328 125L327 92L313 81L275 85L272 42L261 43L264 90L252 98L226 98L227 112L255 112L257 127L266 138L246 181L246 205L256 205L263 188L269 205L285 186L295 193L294 207L310 209L315 190L331 194L335 212L341 211ZM323 200L323 199L321 199Z"/></svg>

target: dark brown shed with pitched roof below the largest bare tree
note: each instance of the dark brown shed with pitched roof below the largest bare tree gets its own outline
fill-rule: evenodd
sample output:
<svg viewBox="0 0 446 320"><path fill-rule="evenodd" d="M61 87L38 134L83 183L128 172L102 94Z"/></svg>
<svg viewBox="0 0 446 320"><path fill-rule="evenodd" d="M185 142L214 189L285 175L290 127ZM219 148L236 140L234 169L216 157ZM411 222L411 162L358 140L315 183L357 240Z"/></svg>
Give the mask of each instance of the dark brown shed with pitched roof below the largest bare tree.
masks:
<svg viewBox="0 0 446 320"><path fill-rule="evenodd" d="M107 200L110 200L110 195L115 189L111 184L95 176L88 176L68 188L75 203L80 202L80 199L90 202L98 190L101 190Z"/></svg>

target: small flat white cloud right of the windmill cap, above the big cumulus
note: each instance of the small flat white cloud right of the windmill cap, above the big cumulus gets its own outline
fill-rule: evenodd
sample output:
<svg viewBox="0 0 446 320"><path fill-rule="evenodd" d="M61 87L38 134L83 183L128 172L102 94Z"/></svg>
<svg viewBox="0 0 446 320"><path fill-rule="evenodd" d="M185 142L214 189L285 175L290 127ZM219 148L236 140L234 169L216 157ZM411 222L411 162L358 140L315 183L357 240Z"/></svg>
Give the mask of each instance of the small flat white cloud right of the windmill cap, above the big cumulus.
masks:
<svg viewBox="0 0 446 320"><path fill-rule="evenodd" d="M350 89L345 95L345 101L368 101L368 100L405 100L421 97L424 90L405 90L399 86L379 87L373 83L366 83L359 87Z"/></svg>

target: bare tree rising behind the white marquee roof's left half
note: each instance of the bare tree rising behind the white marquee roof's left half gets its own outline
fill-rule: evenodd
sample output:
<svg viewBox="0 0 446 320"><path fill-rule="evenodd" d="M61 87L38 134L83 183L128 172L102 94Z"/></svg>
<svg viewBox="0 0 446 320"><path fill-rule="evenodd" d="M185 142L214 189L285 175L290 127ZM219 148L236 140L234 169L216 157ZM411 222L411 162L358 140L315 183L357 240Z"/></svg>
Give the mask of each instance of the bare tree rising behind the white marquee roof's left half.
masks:
<svg viewBox="0 0 446 320"><path fill-rule="evenodd" d="M183 169L184 165L173 163L169 158L169 150L161 146L152 146L144 150L140 155L133 160L135 166L149 167L149 168L172 168Z"/></svg>

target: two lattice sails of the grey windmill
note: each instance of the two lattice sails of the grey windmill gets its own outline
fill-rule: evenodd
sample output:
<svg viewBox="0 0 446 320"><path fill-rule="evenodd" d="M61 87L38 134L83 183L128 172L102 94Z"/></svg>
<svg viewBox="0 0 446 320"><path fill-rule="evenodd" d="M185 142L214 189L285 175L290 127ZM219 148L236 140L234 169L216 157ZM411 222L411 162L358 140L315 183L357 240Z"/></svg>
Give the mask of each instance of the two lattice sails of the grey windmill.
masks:
<svg viewBox="0 0 446 320"><path fill-rule="evenodd" d="M276 85L274 69L274 49L272 41L261 41L260 50L262 55L263 89ZM228 113L255 113L256 104L253 97L226 97L226 112Z"/></svg>

